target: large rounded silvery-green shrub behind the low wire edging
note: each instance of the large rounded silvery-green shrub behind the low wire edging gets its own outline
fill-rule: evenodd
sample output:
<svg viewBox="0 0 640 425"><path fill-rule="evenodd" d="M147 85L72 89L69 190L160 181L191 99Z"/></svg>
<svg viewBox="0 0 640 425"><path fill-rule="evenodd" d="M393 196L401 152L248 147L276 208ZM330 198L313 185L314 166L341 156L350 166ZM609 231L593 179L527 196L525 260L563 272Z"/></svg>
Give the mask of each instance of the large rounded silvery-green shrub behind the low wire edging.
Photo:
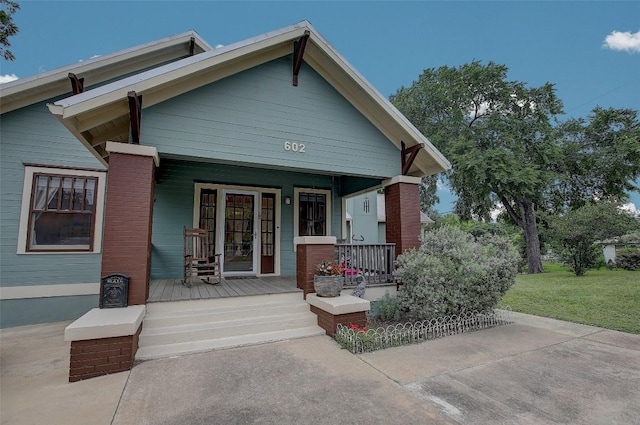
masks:
<svg viewBox="0 0 640 425"><path fill-rule="evenodd" d="M415 321L492 309L515 282L518 261L504 237L434 229L420 249L398 257L398 307Z"/></svg>

